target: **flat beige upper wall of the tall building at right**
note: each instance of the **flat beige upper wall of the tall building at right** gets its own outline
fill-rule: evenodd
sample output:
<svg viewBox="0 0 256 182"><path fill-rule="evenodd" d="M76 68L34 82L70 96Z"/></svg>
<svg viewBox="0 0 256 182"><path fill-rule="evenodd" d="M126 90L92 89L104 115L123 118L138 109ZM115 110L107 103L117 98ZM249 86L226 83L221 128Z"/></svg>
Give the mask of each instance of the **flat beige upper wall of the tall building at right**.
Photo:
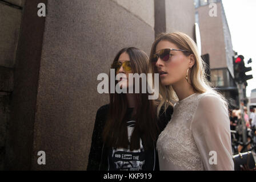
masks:
<svg viewBox="0 0 256 182"><path fill-rule="evenodd" d="M223 35L221 4L217 3L217 17L209 16L209 6L198 9L202 55L209 53L210 68L226 68L225 39Z"/></svg>

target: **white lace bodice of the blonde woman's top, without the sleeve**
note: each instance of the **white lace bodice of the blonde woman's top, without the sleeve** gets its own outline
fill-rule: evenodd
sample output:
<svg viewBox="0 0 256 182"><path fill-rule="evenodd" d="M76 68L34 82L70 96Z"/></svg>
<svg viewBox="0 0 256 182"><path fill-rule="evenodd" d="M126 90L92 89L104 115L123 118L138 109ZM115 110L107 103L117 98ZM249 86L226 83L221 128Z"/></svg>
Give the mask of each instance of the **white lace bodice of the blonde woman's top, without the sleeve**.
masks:
<svg viewBox="0 0 256 182"><path fill-rule="evenodd" d="M201 96L194 94L175 104L171 121L157 141L159 158L188 170L204 169L190 127Z"/></svg>

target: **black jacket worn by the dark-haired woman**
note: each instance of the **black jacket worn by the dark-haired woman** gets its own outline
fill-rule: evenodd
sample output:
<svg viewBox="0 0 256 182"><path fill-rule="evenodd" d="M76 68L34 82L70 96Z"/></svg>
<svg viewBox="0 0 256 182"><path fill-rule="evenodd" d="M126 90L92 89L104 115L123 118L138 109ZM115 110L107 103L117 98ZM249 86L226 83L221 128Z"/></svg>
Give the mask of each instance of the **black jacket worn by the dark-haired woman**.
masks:
<svg viewBox="0 0 256 182"><path fill-rule="evenodd" d="M87 164L87 171L106 171L108 169L108 149L102 141L102 132L106 122L107 112L110 105L101 106L96 114L93 137L91 138L91 149L89 154L89 160ZM173 114L173 107L169 106L166 113L163 113L163 107L159 114L159 129L162 131L171 119ZM157 154L157 150L154 149ZM147 155L151 158L151 155ZM159 170L158 155L155 156L155 170Z"/></svg>

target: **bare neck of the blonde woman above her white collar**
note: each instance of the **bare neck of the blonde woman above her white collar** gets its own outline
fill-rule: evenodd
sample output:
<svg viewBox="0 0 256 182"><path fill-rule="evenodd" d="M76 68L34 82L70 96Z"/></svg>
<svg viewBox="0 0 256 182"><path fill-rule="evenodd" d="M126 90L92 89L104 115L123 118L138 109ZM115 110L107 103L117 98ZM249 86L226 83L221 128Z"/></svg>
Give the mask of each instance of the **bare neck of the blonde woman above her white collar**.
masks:
<svg viewBox="0 0 256 182"><path fill-rule="evenodd" d="M196 93L193 86L190 85L187 81L180 81L173 84L172 86L179 98L179 101L183 100L186 97L189 97L191 94Z"/></svg>

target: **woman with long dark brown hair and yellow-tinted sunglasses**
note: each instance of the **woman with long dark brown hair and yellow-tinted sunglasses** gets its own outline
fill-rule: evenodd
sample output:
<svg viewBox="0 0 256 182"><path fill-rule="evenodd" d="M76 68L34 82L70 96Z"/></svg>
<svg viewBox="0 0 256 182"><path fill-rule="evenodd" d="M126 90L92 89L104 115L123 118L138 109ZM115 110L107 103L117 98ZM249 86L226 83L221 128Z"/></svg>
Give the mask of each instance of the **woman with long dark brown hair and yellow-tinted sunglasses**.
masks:
<svg viewBox="0 0 256 182"><path fill-rule="evenodd" d="M115 80L115 86L128 89L129 73L147 73L149 57L134 48L117 53L112 69L126 78ZM109 81L110 82L110 81ZM157 117L157 101L149 100L150 93L111 93L110 104L97 111L87 170L157 170L155 144L159 133L170 121L172 107L166 115Z"/></svg>

